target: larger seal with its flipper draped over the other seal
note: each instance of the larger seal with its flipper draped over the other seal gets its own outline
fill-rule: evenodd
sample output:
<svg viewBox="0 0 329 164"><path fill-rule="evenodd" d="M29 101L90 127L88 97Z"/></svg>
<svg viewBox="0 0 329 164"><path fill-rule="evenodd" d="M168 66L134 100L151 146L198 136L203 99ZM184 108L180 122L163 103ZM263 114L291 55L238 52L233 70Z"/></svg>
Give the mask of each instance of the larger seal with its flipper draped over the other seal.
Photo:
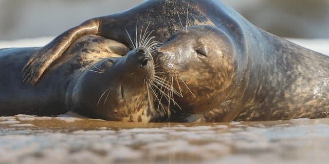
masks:
<svg viewBox="0 0 329 164"><path fill-rule="evenodd" d="M327 56L254 27L239 13L212 0L151 0L122 13L87 20L35 51L24 68L24 81L34 85L48 66L84 35L99 35L128 45L130 37L123 29L138 33L138 21L149 24L154 30L152 35L165 42L184 28L182 15L187 15L186 27L216 27L186 28L158 51L158 56L165 56L157 60L160 70L170 72L163 77L163 83L175 87L171 91L159 89L167 91L169 108L176 112L172 120L274 120L328 115ZM137 34L134 40L138 40ZM160 101L166 103L166 99ZM176 107L170 106L170 101Z"/></svg>

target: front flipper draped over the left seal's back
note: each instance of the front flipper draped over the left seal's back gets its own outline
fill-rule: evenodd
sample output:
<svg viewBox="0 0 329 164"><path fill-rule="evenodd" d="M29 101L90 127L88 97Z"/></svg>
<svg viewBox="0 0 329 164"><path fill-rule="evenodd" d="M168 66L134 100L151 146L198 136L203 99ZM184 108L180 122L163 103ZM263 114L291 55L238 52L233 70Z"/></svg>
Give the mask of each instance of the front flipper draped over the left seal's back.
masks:
<svg viewBox="0 0 329 164"><path fill-rule="evenodd" d="M98 29L99 20L94 18L54 38L48 45L37 51L25 65L23 82L35 85L51 63L58 59L73 42L84 35L96 35Z"/></svg>

